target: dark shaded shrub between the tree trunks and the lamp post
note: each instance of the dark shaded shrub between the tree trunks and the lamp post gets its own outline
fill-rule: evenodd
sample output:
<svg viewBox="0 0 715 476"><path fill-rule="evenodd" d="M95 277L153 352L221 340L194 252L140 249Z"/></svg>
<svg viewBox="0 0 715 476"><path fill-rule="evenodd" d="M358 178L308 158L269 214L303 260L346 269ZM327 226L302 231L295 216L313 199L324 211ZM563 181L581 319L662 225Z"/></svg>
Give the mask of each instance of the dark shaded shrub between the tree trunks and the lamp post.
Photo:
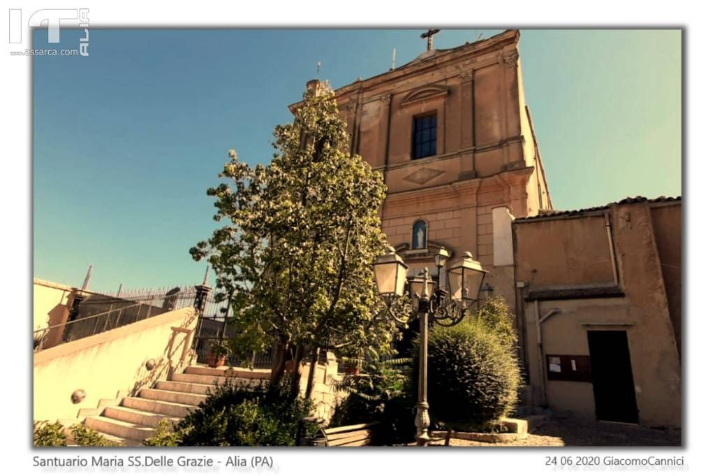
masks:
<svg viewBox="0 0 715 476"><path fill-rule="evenodd" d="M335 384L337 391L347 392L332 417L331 426L381 422L383 445L409 442L413 439L413 399L405 394L408 377L405 366L410 359L343 359L360 364L357 375L345 375ZM409 393L409 392L408 392Z"/></svg>

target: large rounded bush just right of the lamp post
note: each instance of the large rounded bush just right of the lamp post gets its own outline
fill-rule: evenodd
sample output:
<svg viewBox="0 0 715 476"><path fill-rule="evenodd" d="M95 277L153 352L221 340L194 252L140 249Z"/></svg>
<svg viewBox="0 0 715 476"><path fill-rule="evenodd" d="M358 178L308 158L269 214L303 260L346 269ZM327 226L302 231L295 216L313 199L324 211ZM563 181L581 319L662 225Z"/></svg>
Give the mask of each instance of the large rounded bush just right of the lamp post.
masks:
<svg viewBox="0 0 715 476"><path fill-rule="evenodd" d="M430 329L428 400L436 425L487 431L511 412L521 384L511 319L503 300L491 299L457 326Z"/></svg>

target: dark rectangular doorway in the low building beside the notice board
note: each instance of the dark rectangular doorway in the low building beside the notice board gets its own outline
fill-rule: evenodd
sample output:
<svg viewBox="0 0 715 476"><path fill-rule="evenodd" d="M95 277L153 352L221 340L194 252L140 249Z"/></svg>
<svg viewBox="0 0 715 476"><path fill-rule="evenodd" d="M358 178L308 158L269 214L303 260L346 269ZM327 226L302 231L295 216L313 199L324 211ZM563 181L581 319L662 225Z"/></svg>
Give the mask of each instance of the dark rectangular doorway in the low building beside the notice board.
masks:
<svg viewBox="0 0 715 476"><path fill-rule="evenodd" d="M638 423L631 354L626 331L588 331L596 418Z"/></svg>

